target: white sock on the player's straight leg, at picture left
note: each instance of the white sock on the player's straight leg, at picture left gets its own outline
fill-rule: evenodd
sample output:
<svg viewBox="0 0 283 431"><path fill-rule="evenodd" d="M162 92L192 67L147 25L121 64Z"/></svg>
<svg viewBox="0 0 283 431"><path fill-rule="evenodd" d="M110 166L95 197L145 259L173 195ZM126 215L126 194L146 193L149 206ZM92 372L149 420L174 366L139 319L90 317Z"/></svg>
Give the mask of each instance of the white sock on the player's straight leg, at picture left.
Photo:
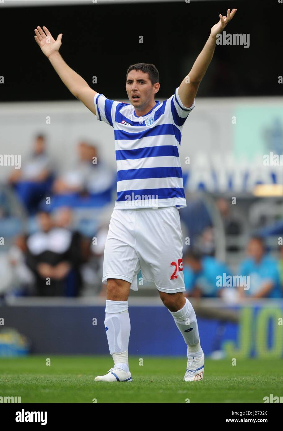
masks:
<svg viewBox="0 0 283 431"><path fill-rule="evenodd" d="M131 331L128 301L106 300L105 330L114 364L129 372L128 347Z"/></svg>

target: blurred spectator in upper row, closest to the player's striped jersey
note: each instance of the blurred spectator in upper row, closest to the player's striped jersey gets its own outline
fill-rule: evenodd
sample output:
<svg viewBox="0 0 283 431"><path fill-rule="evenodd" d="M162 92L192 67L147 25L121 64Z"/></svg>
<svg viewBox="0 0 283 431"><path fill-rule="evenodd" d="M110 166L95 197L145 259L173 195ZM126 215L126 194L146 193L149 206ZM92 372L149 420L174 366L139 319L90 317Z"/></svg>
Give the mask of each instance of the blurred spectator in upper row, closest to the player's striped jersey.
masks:
<svg viewBox="0 0 283 431"><path fill-rule="evenodd" d="M79 161L73 169L57 178L53 184L55 206L69 203L80 206L89 202L102 206L112 198L116 184L114 172L98 157L97 148L81 141L78 145Z"/></svg>

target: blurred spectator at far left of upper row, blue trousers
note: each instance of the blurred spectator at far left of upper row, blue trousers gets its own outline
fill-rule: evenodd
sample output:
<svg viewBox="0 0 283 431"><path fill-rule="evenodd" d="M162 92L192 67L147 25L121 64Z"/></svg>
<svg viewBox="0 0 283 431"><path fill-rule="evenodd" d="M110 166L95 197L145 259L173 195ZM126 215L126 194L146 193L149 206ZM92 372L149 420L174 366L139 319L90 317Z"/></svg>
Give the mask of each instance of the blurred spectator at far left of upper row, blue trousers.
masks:
<svg viewBox="0 0 283 431"><path fill-rule="evenodd" d="M48 194L52 184L51 161L46 154L45 137L37 135L34 150L21 169L15 169L9 178L19 199L30 214L35 214L38 204Z"/></svg>

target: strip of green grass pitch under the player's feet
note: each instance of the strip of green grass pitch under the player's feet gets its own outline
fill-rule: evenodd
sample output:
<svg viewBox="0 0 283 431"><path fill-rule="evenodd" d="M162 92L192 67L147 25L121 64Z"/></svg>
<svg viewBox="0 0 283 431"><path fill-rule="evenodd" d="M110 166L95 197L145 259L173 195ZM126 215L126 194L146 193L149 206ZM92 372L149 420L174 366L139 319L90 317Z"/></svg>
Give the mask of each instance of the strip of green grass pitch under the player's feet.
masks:
<svg viewBox="0 0 283 431"><path fill-rule="evenodd" d="M133 381L95 382L113 366L110 356L0 358L0 396L20 396L22 403L263 403L282 395L280 359L206 359L202 381L184 382L185 358L130 357Z"/></svg>

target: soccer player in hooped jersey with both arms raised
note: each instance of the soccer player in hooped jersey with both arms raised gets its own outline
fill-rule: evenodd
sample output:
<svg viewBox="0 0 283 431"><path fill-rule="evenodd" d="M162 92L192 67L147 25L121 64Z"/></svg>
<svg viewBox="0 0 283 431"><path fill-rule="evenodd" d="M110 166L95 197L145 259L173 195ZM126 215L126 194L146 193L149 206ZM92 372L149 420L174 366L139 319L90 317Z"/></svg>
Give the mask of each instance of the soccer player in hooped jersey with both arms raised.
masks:
<svg viewBox="0 0 283 431"><path fill-rule="evenodd" d="M159 73L153 64L138 63L126 73L129 103L107 99L92 90L59 54L57 40L46 27L37 27L35 40L71 93L99 121L114 128L117 159L117 200L105 244L103 278L107 284L105 330L114 367L95 381L132 381L128 362L129 290L137 290L137 274L153 281L164 305L188 346L184 381L203 378L204 355L194 309L184 297L182 232L178 208L186 206L179 147L181 131L194 108L200 81L211 62L217 34L237 9L211 28L209 38L191 72L175 94L154 100ZM160 322L162 325L162 322ZM164 337L163 332L160 336ZM161 341L162 342L162 341Z"/></svg>

